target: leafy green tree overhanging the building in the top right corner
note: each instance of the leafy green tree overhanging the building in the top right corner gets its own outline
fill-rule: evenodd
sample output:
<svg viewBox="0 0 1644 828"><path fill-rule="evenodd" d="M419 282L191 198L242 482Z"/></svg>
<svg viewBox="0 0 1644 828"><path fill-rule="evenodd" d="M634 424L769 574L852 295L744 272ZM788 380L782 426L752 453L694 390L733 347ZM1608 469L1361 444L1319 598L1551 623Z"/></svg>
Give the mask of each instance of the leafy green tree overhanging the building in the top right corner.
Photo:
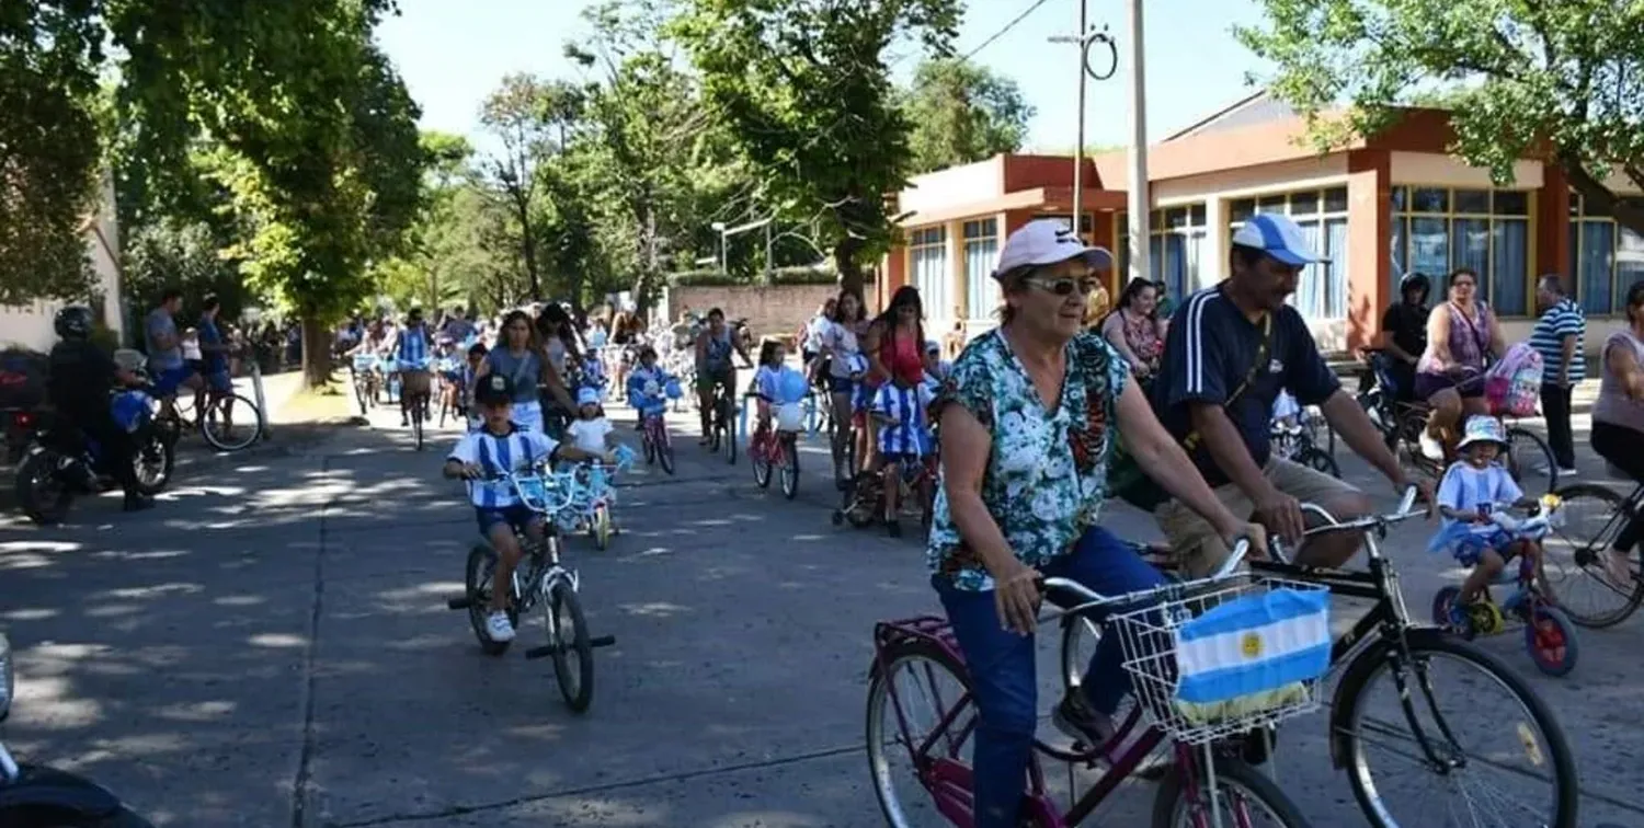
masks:
<svg viewBox="0 0 1644 828"><path fill-rule="evenodd" d="M1596 210L1644 233L1644 205L1606 186L1644 187L1644 7L1613 0L1263 0L1236 30L1276 72L1272 92L1307 117L1320 148L1373 135L1396 107L1447 87L1452 151L1489 168L1559 164ZM1345 110L1337 110L1338 105Z"/></svg>

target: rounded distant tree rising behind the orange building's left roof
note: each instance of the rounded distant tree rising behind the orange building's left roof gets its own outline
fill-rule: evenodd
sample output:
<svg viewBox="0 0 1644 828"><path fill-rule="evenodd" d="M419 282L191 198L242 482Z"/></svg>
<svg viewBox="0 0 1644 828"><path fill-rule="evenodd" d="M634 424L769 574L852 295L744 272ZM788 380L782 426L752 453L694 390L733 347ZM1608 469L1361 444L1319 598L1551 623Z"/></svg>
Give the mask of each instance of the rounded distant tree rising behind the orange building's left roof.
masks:
<svg viewBox="0 0 1644 828"><path fill-rule="evenodd" d="M903 113L912 125L912 172L929 172L1021 150L1034 108L1014 80L939 58L919 62Z"/></svg>

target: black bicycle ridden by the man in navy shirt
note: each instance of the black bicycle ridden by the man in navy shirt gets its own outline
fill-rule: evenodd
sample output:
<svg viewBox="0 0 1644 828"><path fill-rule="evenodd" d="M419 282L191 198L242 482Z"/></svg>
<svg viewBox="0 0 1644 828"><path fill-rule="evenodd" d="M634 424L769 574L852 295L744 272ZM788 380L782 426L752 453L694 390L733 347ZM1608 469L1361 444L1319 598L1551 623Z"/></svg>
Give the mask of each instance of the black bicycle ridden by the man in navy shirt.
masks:
<svg viewBox="0 0 1644 828"><path fill-rule="evenodd" d="M1397 573L1379 547L1391 526L1415 518L1415 490L1406 491L1391 514L1337 521L1328 511L1305 503L1302 509L1317 524L1307 537L1361 532L1368 572L1322 570L1291 564L1282 542L1272 544L1271 560L1251 560L1254 573L1317 583L1338 598L1374 601L1353 628L1330 649L1330 670L1338 674L1330 702L1330 761L1348 772L1348 785L1365 818L1374 828L1457 825L1452 815L1511 813L1512 821L1473 821L1491 828L1540 825L1575 828L1578 780L1575 757L1552 708L1501 659L1434 626L1417 626L1406 610ZM1169 568L1171 562L1156 562ZM1064 619L1062 680L1077 683L1077 669L1095 646L1095 629ZM1437 693L1434 675L1453 665L1463 675L1445 682ZM1389 680L1391 692L1373 693L1376 682ZM1491 702L1491 692L1503 695ZM1373 710L1376 698L1391 698L1392 710ZM1478 720L1475 731L1460 733L1460 721ZM1383 789L1371 752L1386 752L1381 762L1409 762L1396 789ZM1412 790L1409 779L1425 772L1438 790ZM1489 785L1480 779L1501 770ZM1545 779L1550 774L1550 779ZM1420 779L1420 777L1417 777ZM1540 784L1537 784L1540 782ZM1494 790L1489 790L1494 787ZM1475 794L1481 797L1473 800ZM1452 797L1466 798L1452 803ZM1457 816L1457 820L1463 820ZM1465 820L1463 820L1465 821Z"/></svg>

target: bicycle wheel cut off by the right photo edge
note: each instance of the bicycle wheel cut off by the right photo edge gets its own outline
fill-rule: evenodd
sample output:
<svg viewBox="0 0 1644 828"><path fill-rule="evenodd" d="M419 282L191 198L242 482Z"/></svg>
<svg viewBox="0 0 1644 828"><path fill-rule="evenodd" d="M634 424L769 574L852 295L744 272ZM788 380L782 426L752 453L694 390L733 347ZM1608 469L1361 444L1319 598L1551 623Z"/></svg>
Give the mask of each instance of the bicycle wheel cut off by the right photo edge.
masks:
<svg viewBox="0 0 1644 828"><path fill-rule="evenodd" d="M1632 582L1616 585L1605 573L1605 557L1634 516L1629 501L1593 483L1565 486L1557 494L1563 526L1542 540L1542 583L1577 624L1606 628L1626 621L1644 603L1637 559L1629 567Z"/></svg>

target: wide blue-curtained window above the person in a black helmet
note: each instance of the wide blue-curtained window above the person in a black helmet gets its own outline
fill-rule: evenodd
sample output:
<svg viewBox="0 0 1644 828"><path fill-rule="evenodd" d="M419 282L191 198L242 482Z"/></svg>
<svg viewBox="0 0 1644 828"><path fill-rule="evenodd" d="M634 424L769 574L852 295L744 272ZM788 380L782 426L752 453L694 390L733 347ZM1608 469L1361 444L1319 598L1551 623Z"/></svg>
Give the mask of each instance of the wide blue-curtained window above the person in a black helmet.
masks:
<svg viewBox="0 0 1644 828"><path fill-rule="evenodd" d="M1531 199L1522 191L1392 187L1392 276L1425 273L1434 297L1450 271L1478 273L1480 297L1498 315L1531 310Z"/></svg>

